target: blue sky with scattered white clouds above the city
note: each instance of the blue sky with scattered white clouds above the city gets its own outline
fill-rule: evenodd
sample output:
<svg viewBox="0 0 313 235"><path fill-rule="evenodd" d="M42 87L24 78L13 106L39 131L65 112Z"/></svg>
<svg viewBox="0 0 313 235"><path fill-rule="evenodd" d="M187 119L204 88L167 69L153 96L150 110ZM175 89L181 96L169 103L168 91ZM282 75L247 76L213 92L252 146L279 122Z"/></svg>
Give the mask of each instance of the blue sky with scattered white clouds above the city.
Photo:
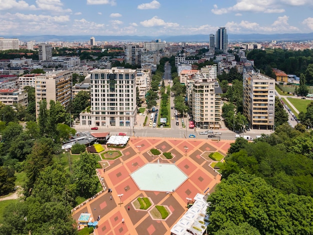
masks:
<svg viewBox="0 0 313 235"><path fill-rule="evenodd" d="M0 0L0 36L313 31L313 0Z"/></svg>

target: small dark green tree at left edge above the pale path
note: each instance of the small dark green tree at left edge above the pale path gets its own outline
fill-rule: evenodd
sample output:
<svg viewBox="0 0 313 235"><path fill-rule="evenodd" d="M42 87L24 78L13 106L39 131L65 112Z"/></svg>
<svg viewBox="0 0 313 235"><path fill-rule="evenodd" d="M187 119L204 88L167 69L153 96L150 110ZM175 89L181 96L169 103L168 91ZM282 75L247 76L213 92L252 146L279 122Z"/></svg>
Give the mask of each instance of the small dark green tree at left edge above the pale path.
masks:
<svg viewBox="0 0 313 235"><path fill-rule="evenodd" d="M0 195L5 195L13 190L16 176L14 169L0 166Z"/></svg>

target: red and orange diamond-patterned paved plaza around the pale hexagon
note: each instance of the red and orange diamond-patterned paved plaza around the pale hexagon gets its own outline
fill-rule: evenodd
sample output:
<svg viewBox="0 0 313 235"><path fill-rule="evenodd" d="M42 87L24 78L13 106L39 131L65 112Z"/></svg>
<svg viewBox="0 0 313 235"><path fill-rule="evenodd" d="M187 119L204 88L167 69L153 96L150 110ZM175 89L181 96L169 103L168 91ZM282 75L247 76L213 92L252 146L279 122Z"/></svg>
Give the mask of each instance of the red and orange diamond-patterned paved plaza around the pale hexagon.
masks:
<svg viewBox="0 0 313 235"><path fill-rule="evenodd" d="M97 170L99 178L103 178L106 190L77 208L72 216L77 221L82 212L91 213L93 220L100 215L94 234L169 234L170 228L187 210L186 198L193 198L196 193L204 193L207 188L212 192L220 181L220 175L209 166L212 161L201 155L215 151L225 155L231 142L233 140L217 142L205 139L131 137L125 148L117 149L122 152L121 157L108 160L109 165L105 172L103 169ZM152 155L149 152L151 148L171 152L174 157L170 160L162 159ZM188 178L171 194L164 191L139 190L130 174L150 162L175 164ZM150 183L153 184L153 180ZM112 192L108 192L108 188L111 188ZM123 195L119 197L120 194ZM148 211L135 209L132 202L137 197L150 198L152 206L167 206L170 210L169 216L164 220L157 220L153 219Z"/></svg>

